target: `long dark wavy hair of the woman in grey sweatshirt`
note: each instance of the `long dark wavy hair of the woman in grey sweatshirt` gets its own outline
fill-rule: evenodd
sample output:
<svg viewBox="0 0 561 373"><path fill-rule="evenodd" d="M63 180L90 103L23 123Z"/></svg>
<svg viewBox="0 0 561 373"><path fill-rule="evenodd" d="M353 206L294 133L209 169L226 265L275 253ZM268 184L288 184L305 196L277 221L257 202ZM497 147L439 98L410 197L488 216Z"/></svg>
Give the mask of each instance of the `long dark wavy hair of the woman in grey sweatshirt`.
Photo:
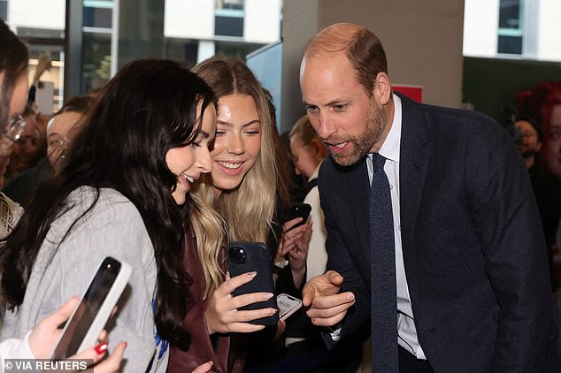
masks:
<svg viewBox="0 0 561 373"><path fill-rule="evenodd" d="M198 103L202 103L199 110ZM73 141L68 164L35 194L5 239L0 270L6 307L22 303L51 223L72 208L68 195L80 186L94 187L97 197L92 209L100 188L111 187L134 203L154 246L158 334L173 346L187 349L189 336L181 324L190 283L181 267L187 209L173 200L170 191L177 179L167 167L165 154L194 141L204 110L216 104L204 80L180 63L150 58L125 65L104 88Z"/></svg>

